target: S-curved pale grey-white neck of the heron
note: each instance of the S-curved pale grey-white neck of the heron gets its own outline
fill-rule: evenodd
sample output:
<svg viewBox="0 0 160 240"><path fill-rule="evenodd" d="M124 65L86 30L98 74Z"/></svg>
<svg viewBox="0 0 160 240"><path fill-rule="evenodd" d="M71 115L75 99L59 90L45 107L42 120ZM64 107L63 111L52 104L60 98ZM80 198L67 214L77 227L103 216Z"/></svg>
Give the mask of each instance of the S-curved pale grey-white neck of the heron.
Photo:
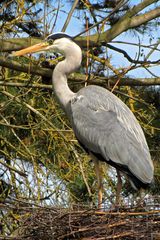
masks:
<svg viewBox="0 0 160 240"><path fill-rule="evenodd" d="M82 59L80 47L74 42L69 45L69 51L64 51L65 60L57 64L52 78L55 94L66 112L68 102L75 95L67 84L67 76L80 66Z"/></svg>

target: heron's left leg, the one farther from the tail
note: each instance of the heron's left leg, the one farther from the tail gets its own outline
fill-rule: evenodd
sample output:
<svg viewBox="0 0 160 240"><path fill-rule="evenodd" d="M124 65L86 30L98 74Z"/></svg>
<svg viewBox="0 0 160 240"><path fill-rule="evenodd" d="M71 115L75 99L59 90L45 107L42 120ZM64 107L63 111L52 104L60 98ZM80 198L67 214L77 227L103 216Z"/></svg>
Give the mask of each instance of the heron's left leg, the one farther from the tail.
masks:
<svg viewBox="0 0 160 240"><path fill-rule="evenodd" d="M95 172L97 176L97 183L98 183L98 209L102 209L102 198L103 198L103 174L102 174L102 166L101 162L97 160L95 157L93 158Z"/></svg>

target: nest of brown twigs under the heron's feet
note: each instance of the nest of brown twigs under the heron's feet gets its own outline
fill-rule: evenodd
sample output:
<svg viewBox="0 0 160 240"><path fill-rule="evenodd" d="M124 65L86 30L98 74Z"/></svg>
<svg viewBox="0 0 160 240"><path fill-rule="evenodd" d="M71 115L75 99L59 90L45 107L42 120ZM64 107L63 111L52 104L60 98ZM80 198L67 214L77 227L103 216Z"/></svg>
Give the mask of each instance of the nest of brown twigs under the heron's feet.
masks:
<svg viewBox="0 0 160 240"><path fill-rule="evenodd" d="M157 210L156 210L157 209ZM10 239L160 239L160 208L118 211L34 208Z"/></svg>

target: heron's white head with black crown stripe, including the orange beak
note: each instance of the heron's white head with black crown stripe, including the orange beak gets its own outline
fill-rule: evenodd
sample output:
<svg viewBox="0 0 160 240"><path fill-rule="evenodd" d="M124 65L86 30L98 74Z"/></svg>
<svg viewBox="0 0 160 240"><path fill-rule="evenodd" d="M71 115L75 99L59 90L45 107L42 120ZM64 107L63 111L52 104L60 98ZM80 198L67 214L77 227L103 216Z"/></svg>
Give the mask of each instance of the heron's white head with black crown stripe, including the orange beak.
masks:
<svg viewBox="0 0 160 240"><path fill-rule="evenodd" d="M79 48L77 44L72 41L72 37L65 33L54 33L49 35L43 42L35 44L31 47L13 52L13 56L22 56L27 53L35 52L59 52L67 55L73 53L73 48ZM79 48L80 49L80 48Z"/></svg>

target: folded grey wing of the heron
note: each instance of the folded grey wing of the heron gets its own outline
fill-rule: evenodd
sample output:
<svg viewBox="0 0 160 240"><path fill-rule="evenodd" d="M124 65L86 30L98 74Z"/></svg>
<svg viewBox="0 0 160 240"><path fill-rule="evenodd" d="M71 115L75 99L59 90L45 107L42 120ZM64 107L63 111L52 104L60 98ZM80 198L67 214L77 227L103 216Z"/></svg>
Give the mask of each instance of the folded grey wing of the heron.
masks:
<svg viewBox="0 0 160 240"><path fill-rule="evenodd" d="M89 86L71 101L78 140L106 161L127 166L142 182L153 179L153 164L143 131L129 108L103 88Z"/></svg>

